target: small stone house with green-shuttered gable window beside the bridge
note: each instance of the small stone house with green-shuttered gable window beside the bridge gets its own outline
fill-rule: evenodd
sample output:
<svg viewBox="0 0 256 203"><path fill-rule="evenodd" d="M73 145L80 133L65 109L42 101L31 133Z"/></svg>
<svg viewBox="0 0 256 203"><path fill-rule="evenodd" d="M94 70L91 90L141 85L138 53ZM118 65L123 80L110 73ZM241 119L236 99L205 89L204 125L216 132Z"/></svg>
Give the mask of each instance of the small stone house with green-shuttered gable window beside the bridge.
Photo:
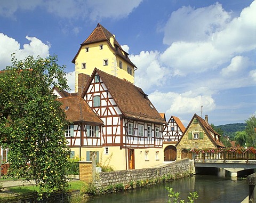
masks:
<svg viewBox="0 0 256 203"><path fill-rule="evenodd" d="M208 115L205 115L204 120L195 113L176 144L177 159L191 158L189 150L193 148L224 148L225 145L220 141L220 136L208 123Z"/></svg>

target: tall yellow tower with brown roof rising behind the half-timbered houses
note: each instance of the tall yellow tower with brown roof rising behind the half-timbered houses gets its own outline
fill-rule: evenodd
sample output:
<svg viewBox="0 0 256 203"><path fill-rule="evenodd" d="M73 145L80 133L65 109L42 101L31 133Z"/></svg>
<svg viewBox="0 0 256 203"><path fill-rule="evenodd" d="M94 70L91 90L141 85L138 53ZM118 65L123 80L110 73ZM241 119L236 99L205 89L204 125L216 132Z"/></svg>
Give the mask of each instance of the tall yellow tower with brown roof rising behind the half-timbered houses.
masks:
<svg viewBox="0 0 256 203"><path fill-rule="evenodd" d="M91 76L94 68L134 83L134 70L137 67L128 55L117 42L115 35L98 23L72 60L75 63L75 92L79 88L78 74Z"/></svg>

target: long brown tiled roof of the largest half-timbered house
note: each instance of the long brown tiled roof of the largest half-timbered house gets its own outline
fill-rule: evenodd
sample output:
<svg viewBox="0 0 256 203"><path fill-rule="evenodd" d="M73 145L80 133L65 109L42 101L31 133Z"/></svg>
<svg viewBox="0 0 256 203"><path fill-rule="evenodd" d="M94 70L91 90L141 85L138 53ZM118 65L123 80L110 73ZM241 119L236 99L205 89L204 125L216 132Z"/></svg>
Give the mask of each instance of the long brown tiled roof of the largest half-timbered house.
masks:
<svg viewBox="0 0 256 203"><path fill-rule="evenodd" d="M85 87L82 97L85 96L96 73L99 74L124 117L166 124L166 121L159 115L141 88L96 68L92 73L89 83Z"/></svg>

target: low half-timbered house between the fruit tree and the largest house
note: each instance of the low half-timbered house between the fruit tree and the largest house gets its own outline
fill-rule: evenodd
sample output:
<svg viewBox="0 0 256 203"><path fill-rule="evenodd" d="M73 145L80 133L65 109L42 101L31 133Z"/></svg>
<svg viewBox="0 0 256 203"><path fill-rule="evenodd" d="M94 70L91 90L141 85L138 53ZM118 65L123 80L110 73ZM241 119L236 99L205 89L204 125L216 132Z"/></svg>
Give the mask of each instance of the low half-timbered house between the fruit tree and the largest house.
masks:
<svg viewBox="0 0 256 203"><path fill-rule="evenodd" d="M90 160L90 148L102 148L101 127L102 120L93 112L81 96L68 96L58 99L62 103L70 125L67 126L65 137L71 149L70 157ZM85 149L86 148L86 149ZM86 151L89 151L86 153Z"/></svg>

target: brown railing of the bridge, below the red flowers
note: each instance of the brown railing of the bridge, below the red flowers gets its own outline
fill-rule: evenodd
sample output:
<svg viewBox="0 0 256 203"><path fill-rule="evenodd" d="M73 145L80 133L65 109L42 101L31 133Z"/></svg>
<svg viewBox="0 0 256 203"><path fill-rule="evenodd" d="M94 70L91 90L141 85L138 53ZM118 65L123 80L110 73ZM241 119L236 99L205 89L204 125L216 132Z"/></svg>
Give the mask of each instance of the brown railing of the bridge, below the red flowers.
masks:
<svg viewBox="0 0 256 203"><path fill-rule="evenodd" d="M256 160L256 153L250 152L198 152L193 153L194 159L219 159L219 160Z"/></svg>

